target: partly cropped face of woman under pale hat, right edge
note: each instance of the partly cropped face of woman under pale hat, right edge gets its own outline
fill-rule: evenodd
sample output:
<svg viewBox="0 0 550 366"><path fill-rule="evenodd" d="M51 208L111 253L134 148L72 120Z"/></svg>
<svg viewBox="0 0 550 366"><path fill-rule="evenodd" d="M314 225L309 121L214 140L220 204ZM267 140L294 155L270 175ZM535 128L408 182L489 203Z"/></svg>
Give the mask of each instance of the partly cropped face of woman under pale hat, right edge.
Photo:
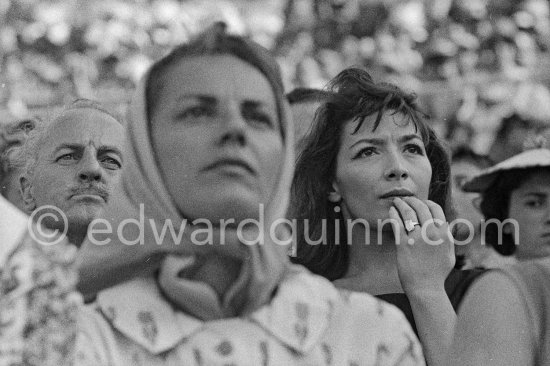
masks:
<svg viewBox="0 0 550 366"><path fill-rule="evenodd" d="M510 195L509 218L517 222L519 244L516 256L520 260L550 256L550 172L533 173ZM505 233L514 228L506 224Z"/></svg>

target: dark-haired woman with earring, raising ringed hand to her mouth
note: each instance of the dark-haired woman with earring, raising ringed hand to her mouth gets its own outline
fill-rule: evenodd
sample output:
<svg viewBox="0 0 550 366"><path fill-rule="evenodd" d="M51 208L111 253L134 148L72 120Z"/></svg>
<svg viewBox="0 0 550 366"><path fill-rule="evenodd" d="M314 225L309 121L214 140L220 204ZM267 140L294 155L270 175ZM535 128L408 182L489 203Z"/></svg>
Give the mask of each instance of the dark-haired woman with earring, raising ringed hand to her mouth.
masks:
<svg viewBox="0 0 550 366"><path fill-rule="evenodd" d="M353 68L329 90L293 182L295 261L397 305L428 363L442 364L468 282L446 283L455 263L448 156L414 95Z"/></svg>

